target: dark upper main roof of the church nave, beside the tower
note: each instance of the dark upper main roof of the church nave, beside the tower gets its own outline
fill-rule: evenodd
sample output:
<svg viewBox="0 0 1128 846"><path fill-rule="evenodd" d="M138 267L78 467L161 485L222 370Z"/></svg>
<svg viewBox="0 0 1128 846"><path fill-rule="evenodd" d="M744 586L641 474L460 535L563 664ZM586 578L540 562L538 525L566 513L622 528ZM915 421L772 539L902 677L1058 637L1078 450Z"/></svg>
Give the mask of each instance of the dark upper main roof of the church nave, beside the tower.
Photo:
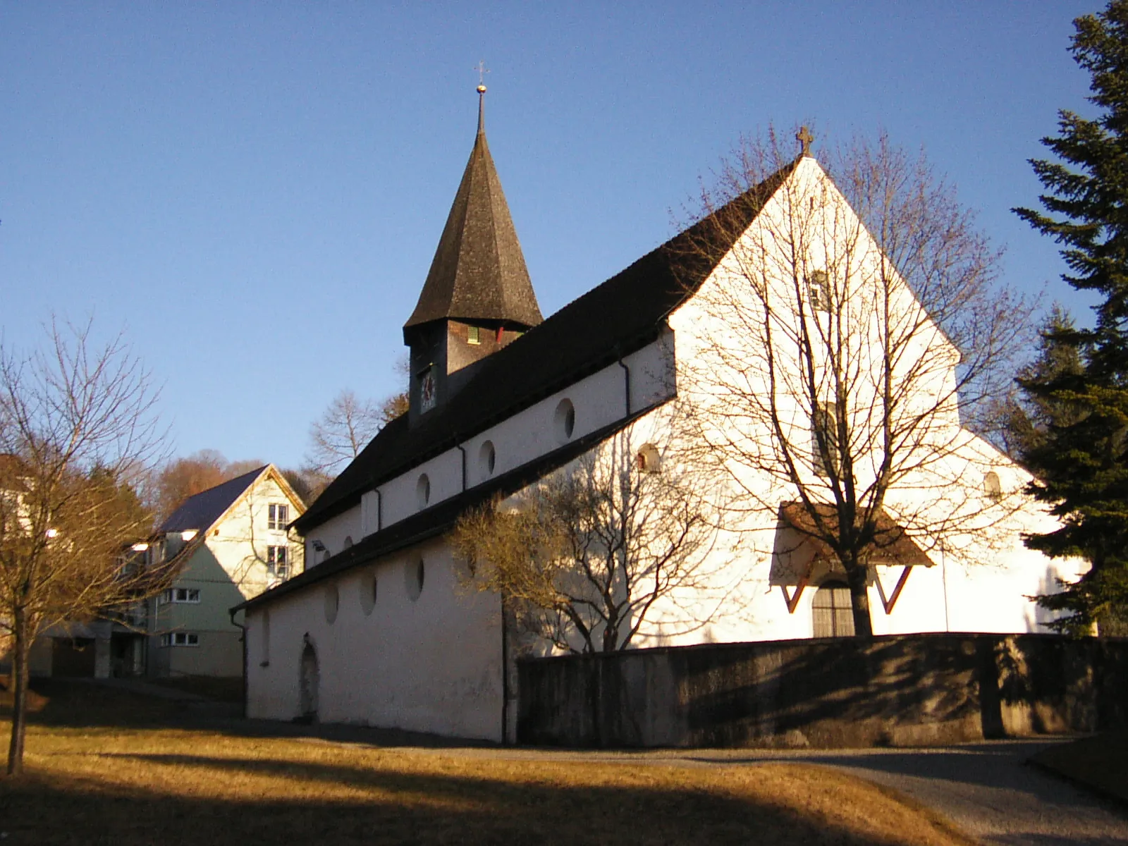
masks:
<svg viewBox="0 0 1128 846"><path fill-rule="evenodd" d="M306 532L355 505L376 485L653 341L669 314L708 277L792 167L483 359L455 396L414 426L408 426L406 414L388 423L294 526Z"/></svg>

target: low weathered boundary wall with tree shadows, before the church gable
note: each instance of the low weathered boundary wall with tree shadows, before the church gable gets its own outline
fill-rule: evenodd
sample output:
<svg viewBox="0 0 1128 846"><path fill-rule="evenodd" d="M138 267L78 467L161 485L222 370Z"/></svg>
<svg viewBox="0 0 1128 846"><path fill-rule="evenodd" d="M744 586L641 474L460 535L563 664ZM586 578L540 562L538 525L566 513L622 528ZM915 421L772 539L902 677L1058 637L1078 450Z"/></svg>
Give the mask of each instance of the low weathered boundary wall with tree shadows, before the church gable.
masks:
<svg viewBox="0 0 1128 846"><path fill-rule="evenodd" d="M1128 725L1128 638L918 634L519 661L518 741L869 747Z"/></svg>

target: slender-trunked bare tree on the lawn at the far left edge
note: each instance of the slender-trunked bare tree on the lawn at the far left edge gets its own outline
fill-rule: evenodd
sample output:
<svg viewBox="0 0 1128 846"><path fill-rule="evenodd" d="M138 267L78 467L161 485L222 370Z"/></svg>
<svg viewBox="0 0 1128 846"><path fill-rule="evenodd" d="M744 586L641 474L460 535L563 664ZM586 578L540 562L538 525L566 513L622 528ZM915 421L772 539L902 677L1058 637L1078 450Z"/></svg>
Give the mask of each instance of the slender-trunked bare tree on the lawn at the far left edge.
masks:
<svg viewBox="0 0 1128 846"><path fill-rule="evenodd" d="M165 587L123 566L148 514L125 492L156 459L157 393L122 337L52 324L45 351L0 345L0 629L12 650L8 773L23 770L28 658L53 626L113 616Z"/></svg>

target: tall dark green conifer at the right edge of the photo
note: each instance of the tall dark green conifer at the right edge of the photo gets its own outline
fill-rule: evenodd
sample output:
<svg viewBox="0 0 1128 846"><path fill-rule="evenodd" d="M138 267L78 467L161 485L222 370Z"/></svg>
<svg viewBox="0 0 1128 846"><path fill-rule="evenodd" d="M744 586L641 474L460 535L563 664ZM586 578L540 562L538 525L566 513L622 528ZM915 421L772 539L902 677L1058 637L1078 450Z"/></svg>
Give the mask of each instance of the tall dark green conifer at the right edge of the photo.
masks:
<svg viewBox="0 0 1128 846"><path fill-rule="evenodd" d="M1067 613L1058 628L1086 632L1117 618L1128 599L1128 0L1074 26L1070 52L1092 76L1089 99L1099 114L1058 113L1059 134L1042 139L1058 160L1031 161L1045 211L1015 212L1063 245L1066 282L1102 297L1093 328L1051 335L1083 351L1083 367L1021 382L1046 407L1068 409L1026 456L1038 475L1031 493L1052 505L1061 528L1026 544L1089 559L1077 583L1039 598Z"/></svg>

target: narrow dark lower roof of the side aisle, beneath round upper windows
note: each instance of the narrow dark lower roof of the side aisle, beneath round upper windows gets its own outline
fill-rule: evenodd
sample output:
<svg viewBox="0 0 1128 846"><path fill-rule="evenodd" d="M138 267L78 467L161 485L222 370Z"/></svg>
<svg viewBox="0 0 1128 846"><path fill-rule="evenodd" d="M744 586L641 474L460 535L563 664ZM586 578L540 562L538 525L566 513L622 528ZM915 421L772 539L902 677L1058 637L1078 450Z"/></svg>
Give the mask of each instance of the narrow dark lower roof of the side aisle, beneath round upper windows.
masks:
<svg viewBox="0 0 1128 846"><path fill-rule="evenodd" d="M349 549L337 553L328 561L308 567L303 573L296 575L293 579L284 581L265 593L259 593L257 597L237 605L231 609L231 613L233 614L238 610L273 601L296 590L301 590L314 582L327 579L331 575L368 564L377 558L391 555L408 546L418 544L422 540L437 537L453 527L458 518L467 510L482 505L494 496L509 496L532 484L543 476L583 455L600 441L626 429L638 417L650 413L659 405L662 405L662 403L643 408L629 417L616 421L590 434L578 438L559 449L546 453L536 461L522 465L509 473L502 474L495 479L462 491L455 496L435 503L424 511L420 511L417 514L412 514L399 522L393 523L387 529L370 535Z"/></svg>

